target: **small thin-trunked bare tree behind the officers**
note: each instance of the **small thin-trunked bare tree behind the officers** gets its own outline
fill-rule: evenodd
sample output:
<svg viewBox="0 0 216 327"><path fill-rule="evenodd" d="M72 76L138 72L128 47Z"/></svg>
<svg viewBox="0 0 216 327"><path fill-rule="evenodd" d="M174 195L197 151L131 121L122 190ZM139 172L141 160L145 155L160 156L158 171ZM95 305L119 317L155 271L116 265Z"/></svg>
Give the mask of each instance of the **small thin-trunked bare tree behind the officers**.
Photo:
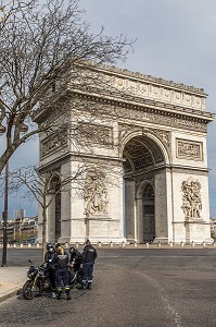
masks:
<svg viewBox="0 0 216 327"><path fill-rule="evenodd" d="M54 202L55 197L63 192L67 192L72 201L72 191L76 197L81 197L85 201L84 214L88 218L91 210L96 207L93 204L92 179L100 180L100 185L103 184L104 177L109 174L106 186L103 189L103 198L97 199L98 210L105 214L106 211L106 187L117 184L118 173L112 168L112 165L101 166L101 162L94 165L80 162L73 171L61 173L59 168L49 169L36 168L35 166L18 168L10 172L10 193L22 194L23 198L36 201L41 210L42 226L42 255L46 253L46 243L48 240L48 209ZM4 174L0 177L0 194L3 193Z"/></svg>

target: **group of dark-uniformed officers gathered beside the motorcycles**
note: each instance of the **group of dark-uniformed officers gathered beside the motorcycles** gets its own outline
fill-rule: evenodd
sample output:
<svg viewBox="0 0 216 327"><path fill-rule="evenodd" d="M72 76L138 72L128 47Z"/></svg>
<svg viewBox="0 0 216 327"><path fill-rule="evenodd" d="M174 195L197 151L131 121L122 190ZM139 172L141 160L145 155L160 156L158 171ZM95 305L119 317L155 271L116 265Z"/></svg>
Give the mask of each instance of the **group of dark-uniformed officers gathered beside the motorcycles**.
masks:
<svg viewBox="0 0 216 327"><path fill-rule="evenodd" d="M97 250L91 245L89 240L86 241L82 253L72 246L69 247L69 255L60 243L55 245L48 243L45 262L47 263L52 287L51 298L61 300L62 293L65 291L66 299L72 299L69 270L76 272L80 267L82 267L82 288L91 289L93 264L97 256Z"/></svg>

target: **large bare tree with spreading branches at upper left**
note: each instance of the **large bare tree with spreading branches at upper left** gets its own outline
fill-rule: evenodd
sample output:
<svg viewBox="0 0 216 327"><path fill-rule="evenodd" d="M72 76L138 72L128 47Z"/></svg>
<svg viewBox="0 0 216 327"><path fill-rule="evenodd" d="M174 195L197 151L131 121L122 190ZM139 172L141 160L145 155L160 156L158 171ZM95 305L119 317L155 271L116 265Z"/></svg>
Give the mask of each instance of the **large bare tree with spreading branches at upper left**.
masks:
<svg viewBox="0 0 216 327"><path fill-rule="evenodd" d="M2 5L0 133L7 133L7 142L0 154L0 173L21 144L38 132L50 131L50 121L39 126L33 121L40 108L50 109L52 93L65 87L68 76L91 92L100 78L86 75L86 60L94 68L115 64L126 59L132 44L123 35L104 36L103 28L92 34L78 0L46 0L42 4L39 0L14 0ZM60 100L55 93L55 107L63 110ZM58 129L62 129L60 122Z"/></svg>

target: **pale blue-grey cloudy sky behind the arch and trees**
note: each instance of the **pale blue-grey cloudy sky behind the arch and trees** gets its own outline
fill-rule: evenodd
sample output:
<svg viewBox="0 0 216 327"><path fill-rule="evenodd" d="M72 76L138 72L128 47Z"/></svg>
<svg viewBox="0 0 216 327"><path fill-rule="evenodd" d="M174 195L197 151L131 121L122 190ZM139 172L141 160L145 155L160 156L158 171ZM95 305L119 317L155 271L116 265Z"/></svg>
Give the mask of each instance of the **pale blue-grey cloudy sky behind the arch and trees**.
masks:
<svg viewBox="0 0 216 327"><path fill-rule="evenodd" d="M176 83L203 87L208 94L207 111L216 112L216 1L215 0L80 0L85 19L97 32L124 34L136 39L119 68L163 77ZM216 121L208 125L211 216L216 218ZM38 142L23 145L11 167L38 162ZM1 205L1 203L0 203ZM27 215L37 213L37 204L18 196L10 197L10 216L15 208Z"/></svg>

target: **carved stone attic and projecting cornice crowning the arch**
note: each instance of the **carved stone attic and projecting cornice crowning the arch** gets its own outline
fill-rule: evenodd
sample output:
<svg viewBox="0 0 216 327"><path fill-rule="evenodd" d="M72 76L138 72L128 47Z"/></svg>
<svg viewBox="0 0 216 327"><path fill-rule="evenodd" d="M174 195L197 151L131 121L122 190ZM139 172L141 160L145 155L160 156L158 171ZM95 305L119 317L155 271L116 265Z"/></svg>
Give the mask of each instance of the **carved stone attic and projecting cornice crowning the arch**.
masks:
<svg viewBox="0 0 216 327"><path fill-rule="evenodd" d="M86 65L81 64L80 69L87 73L87 84L79 84L76 80L74 81L72 73L71 81L65 82L56 93L52 94L48 104L68 100L72 95L78 95L80 98L122 106L123 108L144 111L153 109L154 112L171 117L180 114L183 119L199 119L203 123L214 120L215 114L205 110L204 99L206 94L202 88L186 86L173 81L155 78L113 66L86 63ZM99 75L94 76L94 72ZM78 74L81 76L81 72L78 72ZM112 80L113 74L118 77ZM141 82L138 81L139 78L141 78ZM103 86L100 87L100 84ZM45 109L39 109L35 112L34 120L37 122L43 120L51 110L49 105Z"/></svg>

